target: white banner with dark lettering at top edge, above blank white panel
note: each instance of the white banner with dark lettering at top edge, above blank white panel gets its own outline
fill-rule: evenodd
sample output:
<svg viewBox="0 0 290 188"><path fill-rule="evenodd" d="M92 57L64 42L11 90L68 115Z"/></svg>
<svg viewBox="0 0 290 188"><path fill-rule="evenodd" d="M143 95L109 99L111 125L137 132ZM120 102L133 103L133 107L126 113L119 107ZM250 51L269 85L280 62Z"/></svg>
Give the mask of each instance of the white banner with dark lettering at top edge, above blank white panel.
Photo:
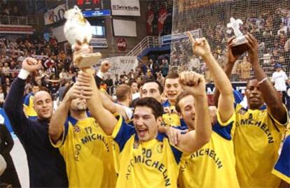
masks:
<svg viewBox="0 0 290 188"><path fill-rule="evenodd" d="M111 0L112 15L140 16L139 0Z"/></svg>

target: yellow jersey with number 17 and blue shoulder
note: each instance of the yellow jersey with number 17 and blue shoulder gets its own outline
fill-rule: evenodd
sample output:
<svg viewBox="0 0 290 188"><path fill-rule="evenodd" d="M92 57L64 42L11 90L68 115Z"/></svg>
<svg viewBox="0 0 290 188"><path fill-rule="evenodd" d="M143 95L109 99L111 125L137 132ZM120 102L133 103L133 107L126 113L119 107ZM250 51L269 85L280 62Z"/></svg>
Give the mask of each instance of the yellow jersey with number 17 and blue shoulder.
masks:
<svg viewBox="0 0 290 188"><path fill-rule="evenodd" d="M112 151L116 145L92 117L85 120L68 117L62 140L53 145L59 147L66 162L69 187L116 186Z"/></svg>

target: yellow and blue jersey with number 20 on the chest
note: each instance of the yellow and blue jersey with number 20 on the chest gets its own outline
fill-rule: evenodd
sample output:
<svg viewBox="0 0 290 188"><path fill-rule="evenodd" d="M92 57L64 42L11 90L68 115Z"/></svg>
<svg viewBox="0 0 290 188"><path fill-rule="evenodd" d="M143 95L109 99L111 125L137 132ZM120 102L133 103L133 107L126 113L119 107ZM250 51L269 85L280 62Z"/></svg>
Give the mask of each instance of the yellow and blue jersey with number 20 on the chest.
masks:
<svg viewBox="0 0 290 188"><path fill-rule="evenodd" d="M134 127L119 117L113 139L120 148L120 170L116 187L177 187L181 150L165 135L140 142Z"/></svg>

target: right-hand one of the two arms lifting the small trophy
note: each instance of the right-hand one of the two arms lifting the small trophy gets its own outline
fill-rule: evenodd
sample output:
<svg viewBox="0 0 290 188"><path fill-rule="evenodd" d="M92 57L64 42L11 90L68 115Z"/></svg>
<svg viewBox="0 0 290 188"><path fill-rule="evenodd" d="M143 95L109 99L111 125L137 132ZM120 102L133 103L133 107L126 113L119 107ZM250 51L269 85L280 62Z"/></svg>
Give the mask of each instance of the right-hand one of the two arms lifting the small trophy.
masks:
<svg viewBox="0 0 290 188"><path fill-rule="evenodd" d="M247 34L247 46L249 47L249 57L251 65L254 69L255 76L259 82L259 87L273 117L281 124L286 124L287 110L284 108L282 100L279 99L275 87L272 85L270 79L267 78L266 73L258 62L258 41L251 34Z"/></svg>

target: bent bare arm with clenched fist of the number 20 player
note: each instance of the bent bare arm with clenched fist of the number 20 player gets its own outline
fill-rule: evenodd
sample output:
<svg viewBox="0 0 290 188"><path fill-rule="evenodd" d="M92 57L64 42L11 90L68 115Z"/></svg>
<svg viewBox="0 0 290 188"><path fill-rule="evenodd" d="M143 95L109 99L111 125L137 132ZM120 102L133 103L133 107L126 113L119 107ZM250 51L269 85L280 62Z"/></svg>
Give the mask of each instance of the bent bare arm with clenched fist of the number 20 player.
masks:
<svg viewBox="0 0 290 188"><path fill-rule="evenodd" d="M180 75L181 87L193 95L195 103L195 130L189 131L180 138L177 144L184 152L194 152L209 142L212 124L209 117L205 78L195 72L184 72Z"/></svg>

